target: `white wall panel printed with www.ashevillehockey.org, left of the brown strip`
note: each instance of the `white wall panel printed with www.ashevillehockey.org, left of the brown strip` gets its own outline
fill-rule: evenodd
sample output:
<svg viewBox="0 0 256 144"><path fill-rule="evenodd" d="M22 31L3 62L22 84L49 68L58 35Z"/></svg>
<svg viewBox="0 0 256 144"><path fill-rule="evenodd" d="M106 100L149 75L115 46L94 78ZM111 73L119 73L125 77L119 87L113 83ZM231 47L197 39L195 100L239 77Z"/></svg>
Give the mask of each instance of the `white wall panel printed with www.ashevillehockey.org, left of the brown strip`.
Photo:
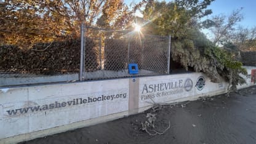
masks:
<svg viewBox="0 0 256 144"><path fill-rule="evenodd" d="M0 90L0 139L49 129L73 122L98 118L108 114L128 110L128 79L110 81L78 82L74 84L55 84L34 87L17 87ZM116 98L122 94L122 98ZM106 100L101 100L106 96ZM115 95L115 98L108 95ZM126 97L123 97L125 95ZM120 95L119 95L120 96ZM76 98L98 98L100 102L73 105ZM60 108L50 108L50 104L66 103ZM48 110L42 110L48 107ZM8 110L40 106L38 111L10 115Z"/></svg>

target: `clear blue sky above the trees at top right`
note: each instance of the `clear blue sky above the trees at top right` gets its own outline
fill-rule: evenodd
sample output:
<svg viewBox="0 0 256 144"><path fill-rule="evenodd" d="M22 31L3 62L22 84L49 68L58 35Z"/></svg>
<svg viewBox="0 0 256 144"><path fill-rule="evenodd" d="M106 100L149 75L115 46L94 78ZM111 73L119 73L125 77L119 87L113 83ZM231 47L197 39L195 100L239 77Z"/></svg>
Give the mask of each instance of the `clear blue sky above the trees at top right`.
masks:
<svg viewBox="0 0 256 144"><path fill-rule="evenodd" d="M127 5L129 5L132 1L137 3L140 0L124 0ZM170 0L167 0L167 2L169 1ZM207 8L212 9L212 15L230 15L233 10L240 9L241 7L243 7L242 14L244 15L244 19L240 23L238 23L238 25L241 25L244 28L252 28L253 26L256 26L255 0L215 0Z"/></svg>

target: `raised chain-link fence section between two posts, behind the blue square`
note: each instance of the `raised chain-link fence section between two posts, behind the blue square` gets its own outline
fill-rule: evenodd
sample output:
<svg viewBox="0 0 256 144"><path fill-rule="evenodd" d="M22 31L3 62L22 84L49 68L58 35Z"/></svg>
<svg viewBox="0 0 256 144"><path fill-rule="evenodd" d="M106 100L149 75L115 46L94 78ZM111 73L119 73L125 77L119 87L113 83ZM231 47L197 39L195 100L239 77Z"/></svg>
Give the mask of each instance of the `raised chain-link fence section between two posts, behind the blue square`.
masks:
<svg viewBox="0 0 256 144"><path fill-rule="evenodd" d="M169 73L170 38L137 31L86 28L82 79L124 78ZM93 39L93 41L87 41ZM82 50L83 51L83 50ZM129 74L129 63L138 74Z"/></svg>

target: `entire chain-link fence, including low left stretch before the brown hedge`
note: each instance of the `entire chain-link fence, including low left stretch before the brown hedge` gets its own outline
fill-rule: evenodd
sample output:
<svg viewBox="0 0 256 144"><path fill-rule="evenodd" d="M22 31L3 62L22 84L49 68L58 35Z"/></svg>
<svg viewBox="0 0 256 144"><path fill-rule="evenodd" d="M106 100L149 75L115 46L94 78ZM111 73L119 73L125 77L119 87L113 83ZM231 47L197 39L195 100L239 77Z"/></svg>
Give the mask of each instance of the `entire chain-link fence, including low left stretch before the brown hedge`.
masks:
<svg viewBox="0 0 256 144"><path fill-rule="evenodd" d="M1 43L0 87L169 73L169 37L81 30L81 36L63 35L28 46ZM129 74L129 63L137 63L138 74Z"/></svg>

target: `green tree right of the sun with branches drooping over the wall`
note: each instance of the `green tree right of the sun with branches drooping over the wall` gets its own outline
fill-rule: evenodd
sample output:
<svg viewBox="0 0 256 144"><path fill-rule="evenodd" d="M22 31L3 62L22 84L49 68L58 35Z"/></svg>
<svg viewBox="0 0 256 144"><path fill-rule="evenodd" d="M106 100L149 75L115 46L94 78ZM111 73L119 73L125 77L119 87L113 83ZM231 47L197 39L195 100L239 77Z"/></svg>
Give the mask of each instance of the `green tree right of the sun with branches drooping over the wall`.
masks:
<svg viewBox="0 0 256 144"><path fill-rule="evenodd" d="M164 36L171 34L171 54L175 62L180 63L186 70L193 68L194 71L205 73L212 82L220 82L222 77L236 86L245 82L239 76L240 73L246 73L241 68L242 63L236 62L228 51L216 47L200 31L203 24L211 22L199 22L202 17L211 14L211 10L206 9L211 2L212 0L176 0L169 3L148 1L143 14L151 23L144 26L144 33ZM233 28L238 21L238 15L239 12L236 12L236 17L228 19L229 24L225 26L225 31Z"/></svg>

